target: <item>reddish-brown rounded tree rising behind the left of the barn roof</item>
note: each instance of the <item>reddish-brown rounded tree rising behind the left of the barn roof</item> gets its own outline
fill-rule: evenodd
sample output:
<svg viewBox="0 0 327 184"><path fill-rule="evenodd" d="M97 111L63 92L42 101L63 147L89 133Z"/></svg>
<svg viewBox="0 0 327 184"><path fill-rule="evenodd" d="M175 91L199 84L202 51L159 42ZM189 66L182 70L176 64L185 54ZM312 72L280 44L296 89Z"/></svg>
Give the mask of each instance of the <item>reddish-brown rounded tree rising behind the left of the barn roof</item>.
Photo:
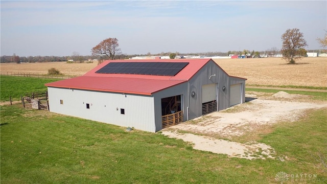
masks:
<svg viewBox="0 0 327 184"><path fill-rule="evenodd" d="M118 48L119 43L117 38L107 38L102 40L96 47L91 49L92 55L106 55L111 60L116 54L120 54L121 49Z"/></svg>

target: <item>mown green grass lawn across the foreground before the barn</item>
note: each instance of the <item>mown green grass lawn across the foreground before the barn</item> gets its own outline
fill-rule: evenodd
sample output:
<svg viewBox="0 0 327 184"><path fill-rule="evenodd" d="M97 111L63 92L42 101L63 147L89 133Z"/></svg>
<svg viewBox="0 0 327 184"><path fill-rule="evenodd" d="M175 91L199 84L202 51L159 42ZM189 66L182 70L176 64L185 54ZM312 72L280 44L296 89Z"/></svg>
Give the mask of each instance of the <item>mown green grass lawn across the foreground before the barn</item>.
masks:
<svg viewBox="0 0 327 184"><path fill-rule="evenodd" d="M280 183L278 172L315 174L306 182L325 183L315 155L327 154L326 113L311 111L262 135L282 162L228 158L160 133L2 106L1 183Z"/></svg>

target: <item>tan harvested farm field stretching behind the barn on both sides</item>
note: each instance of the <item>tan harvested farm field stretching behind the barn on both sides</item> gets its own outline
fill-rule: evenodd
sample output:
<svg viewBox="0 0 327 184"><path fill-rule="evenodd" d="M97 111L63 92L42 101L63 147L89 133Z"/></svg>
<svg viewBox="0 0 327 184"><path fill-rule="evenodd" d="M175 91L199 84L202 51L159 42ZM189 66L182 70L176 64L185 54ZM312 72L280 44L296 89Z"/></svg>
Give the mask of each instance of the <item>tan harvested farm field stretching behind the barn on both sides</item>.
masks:
<svg viewBox="0 0 327 184"><path fill-rule="evenodd" d="M130 60L129 60L130 61ZM231 76L246 78L247 85L327 86L327 58L307 57L290 65L281 58L215 59ZM1 63L1 72L47 74L52 67L64 75L83 75L98 63Z"/></svg>

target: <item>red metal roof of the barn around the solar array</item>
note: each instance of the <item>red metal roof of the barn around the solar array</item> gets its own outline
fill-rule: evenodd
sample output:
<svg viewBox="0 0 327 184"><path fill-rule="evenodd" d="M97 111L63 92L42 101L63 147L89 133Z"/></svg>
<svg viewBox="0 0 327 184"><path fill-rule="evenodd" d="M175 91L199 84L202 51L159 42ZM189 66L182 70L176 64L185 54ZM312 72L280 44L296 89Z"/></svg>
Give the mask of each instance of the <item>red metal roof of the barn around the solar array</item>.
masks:
<svg viewBox="0 0 327 184"><path fill-rule="evenodd" d="M190 80L211 59L137 60L137 62L189 62L175 76L137 74L97 74L109 62L131 62L133 60L106 60L81 77L45 84L48 87L109 91L139 95L152 95L159 90Z"/></svg>

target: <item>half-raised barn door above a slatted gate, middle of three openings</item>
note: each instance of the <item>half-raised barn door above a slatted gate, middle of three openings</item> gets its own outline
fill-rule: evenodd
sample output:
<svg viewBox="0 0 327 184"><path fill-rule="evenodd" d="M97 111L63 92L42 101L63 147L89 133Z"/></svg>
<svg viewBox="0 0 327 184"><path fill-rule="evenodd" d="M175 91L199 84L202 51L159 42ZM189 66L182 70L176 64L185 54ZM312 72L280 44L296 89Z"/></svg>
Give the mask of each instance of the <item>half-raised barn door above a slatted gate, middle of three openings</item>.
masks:
<svg viewBox="0 0 327 184"><path fill-rule="evenodd" d="M202 86L202 115L217 111L216 83Z"/></svg>

